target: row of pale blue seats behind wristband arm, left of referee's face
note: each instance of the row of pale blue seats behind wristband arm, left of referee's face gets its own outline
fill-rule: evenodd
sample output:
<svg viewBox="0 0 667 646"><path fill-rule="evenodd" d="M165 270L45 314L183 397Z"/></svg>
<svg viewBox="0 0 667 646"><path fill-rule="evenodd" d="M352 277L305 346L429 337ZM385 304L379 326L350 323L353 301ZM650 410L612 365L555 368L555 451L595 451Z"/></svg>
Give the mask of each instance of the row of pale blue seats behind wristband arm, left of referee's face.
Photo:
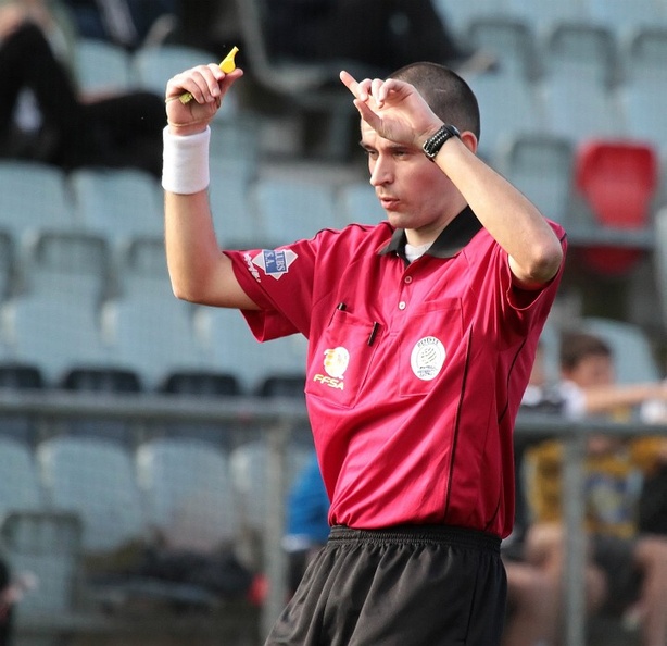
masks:
<svg viewBox="0 0 667 646"><path fill-rule="evenodd" d="M365 179L332 185L260 176L248 164L218 156L211 161L212 211L227 245L276 246L327 226L385 216ZM162 202L159 183L137 170L81 169L67 175L38 163L0 162L0 228L14 237L35 227L99 233L112 241L162 235Z"/></svg>

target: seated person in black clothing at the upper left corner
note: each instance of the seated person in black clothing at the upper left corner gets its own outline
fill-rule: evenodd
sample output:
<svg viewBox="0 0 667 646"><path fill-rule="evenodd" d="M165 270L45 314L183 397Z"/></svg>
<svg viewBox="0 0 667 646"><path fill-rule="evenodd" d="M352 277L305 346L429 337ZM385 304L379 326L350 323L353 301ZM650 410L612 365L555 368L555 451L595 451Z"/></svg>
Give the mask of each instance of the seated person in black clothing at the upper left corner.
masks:
<svg viewBox="0 0 667 646"><path fill-rule="evenodd" d="M79 95L72 74L53 50L49 25L14 1L0 5L0 157L80 166L134 166L159 177L162 171L164 102L131 91L104 97ZM34 99L36 123L26 127L20 101ZM23 114L25 117L25 114Z"/></svg>

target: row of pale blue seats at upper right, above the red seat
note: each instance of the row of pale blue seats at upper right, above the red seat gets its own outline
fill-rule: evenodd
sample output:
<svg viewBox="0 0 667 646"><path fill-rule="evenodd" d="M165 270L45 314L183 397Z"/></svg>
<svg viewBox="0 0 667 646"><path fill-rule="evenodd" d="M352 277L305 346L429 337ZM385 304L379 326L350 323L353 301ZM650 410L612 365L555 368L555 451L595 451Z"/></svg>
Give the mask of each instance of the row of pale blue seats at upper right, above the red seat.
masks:
<svg viewBox="0 0 667 646"><path fill-rule="evenodd" d="M467 78L480 103L486 158L507 135L526 132L576 145L590 137L638 139L667 157L667 29L637 35L624 74L613 63L620 58L616 44L602 27L558 25L548 40L549 55L541 57L525 25L504 18L473 23L469 39L495 53L500 65Z"/></svg>

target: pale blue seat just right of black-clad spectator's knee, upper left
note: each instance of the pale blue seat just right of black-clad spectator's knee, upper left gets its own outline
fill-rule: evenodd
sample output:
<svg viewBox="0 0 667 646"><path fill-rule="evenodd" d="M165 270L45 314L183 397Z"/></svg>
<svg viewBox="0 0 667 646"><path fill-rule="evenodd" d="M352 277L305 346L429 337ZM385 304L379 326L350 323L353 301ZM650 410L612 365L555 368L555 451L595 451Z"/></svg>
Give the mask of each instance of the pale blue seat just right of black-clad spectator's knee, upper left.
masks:
<svg viewBox="0 0 667 646"><path fill-rule="evenodd" d="M124 91L131 86L127 50L100 38L79 37L74 50L76 83L83 92Z"/></svg>

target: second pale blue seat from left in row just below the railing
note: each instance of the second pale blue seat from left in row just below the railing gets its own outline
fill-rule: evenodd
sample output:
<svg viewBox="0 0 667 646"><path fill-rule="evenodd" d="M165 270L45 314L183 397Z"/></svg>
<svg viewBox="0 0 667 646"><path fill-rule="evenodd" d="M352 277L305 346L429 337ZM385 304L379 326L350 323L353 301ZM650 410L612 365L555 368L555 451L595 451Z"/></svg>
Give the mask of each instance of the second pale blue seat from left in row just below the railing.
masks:
<svg viewBox="0 0 667 646"><path fill-rule="evenodd" d="M99 438L61 436L40 443L36 456L49 505L79 515L87 554L111 552L147 538L127 449Z"/></svg>

